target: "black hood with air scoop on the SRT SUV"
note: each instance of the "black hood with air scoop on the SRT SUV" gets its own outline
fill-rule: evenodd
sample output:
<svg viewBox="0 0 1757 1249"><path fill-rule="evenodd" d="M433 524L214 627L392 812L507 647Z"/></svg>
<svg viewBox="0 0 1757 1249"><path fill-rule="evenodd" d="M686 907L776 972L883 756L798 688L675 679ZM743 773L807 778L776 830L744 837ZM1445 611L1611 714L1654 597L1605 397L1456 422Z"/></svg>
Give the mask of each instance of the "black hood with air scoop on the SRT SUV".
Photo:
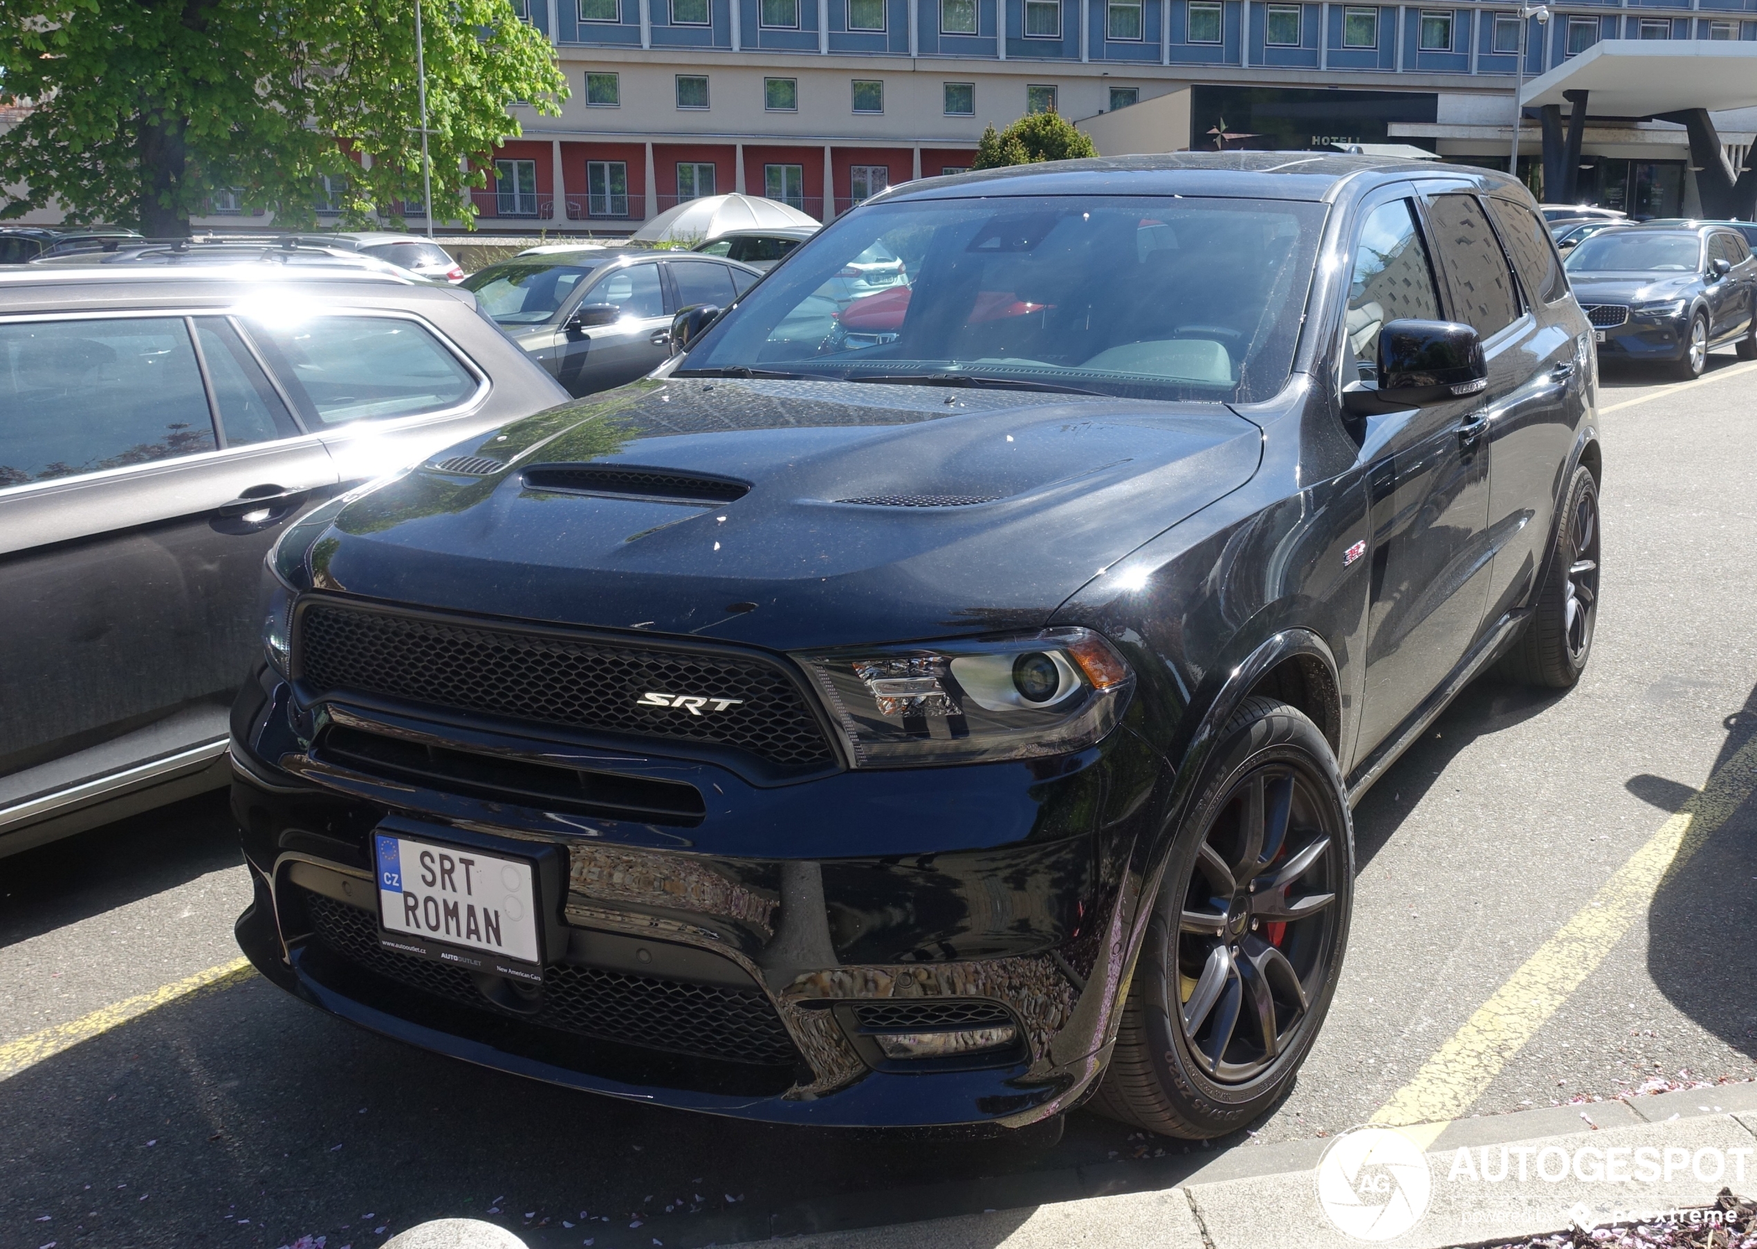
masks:
<svg viewBox="0 0 1757 1249"><path fill-rule="evenodd" d="M372 599L775 648L1038 627L1260 457L1221 404L643 379L369 488L311 566ZM589 492L555 488L582 464Z"/></svg>

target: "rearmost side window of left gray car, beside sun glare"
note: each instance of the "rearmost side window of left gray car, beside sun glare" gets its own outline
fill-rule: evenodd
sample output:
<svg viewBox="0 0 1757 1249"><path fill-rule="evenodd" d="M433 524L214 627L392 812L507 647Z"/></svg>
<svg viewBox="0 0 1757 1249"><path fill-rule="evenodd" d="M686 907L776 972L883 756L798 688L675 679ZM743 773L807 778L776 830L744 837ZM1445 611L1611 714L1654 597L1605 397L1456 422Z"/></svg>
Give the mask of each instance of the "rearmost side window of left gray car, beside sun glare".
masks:
<svg viewBox="0 0 1757 1249"><path fill-rule="evenodd" d="M432 334L401 316L246 321L309 429L457 408L476 378Z"/></svg>

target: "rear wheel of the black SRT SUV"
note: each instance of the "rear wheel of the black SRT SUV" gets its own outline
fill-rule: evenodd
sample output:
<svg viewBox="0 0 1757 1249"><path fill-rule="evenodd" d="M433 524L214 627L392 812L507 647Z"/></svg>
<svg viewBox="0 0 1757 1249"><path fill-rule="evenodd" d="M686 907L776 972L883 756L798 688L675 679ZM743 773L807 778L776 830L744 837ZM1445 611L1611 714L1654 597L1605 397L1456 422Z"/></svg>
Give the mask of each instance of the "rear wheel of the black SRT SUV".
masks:
<svg viewBox="0 0 1757 1249"><path fill-rule="evenodd" d="M1571 689L1592 659L1599 618L1599 483L1580 466L1532 606L1532 618L1495 671L1520 685Z"/></svg>

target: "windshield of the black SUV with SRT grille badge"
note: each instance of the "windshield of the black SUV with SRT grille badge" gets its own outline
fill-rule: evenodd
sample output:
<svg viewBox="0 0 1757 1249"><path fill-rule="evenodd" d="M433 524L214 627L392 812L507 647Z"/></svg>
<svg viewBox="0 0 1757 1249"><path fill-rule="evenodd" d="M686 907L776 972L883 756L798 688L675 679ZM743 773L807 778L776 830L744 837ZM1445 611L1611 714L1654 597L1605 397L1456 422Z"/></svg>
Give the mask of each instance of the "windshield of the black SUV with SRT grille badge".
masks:
<svg viewBox="0 0 1757 1249"><path fill-rule="evenodd" d="M1267 399L1323 214L1133 195L871 204L752 288L678 374Z"/></svg>

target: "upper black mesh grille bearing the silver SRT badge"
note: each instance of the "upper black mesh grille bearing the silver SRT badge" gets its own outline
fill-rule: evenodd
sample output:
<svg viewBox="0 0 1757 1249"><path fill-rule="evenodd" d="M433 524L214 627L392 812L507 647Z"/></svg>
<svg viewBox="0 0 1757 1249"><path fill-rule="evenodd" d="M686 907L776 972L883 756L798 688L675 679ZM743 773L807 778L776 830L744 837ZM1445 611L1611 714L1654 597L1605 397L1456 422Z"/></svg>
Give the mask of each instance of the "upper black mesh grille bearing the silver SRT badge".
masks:
<svg viewBox="0 0 1757 1249"><path fill-rule="evenodd" d="M315 694L355 690L576 729L733 747L784 771L835 762L798 687L763 659L402 617L330 603L299 613L293 655ZM638 706L648 694L727 699Z"/></svg>

